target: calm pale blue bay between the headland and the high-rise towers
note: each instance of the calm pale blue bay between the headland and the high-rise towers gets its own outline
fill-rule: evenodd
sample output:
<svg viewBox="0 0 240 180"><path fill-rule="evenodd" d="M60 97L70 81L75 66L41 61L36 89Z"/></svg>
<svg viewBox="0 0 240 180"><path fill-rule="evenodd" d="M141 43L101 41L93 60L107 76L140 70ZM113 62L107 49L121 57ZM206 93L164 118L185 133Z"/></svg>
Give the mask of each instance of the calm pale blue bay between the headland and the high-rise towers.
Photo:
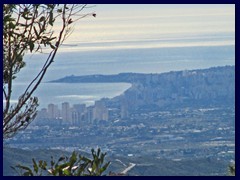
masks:
<svg viewBox="0 0 240 180"><path fill-rule="evenodd" d="M27 83L17 83L15 94L23 91ZM47 107L49 103L63 102L71 104L93 105L96 100L103 97L112 98L120 95L131 85L127 83L42 83L35 95L39 97L40 107ZM15 96L16 97L16 96ZM14 101L13 101L14 102Z"/></svg>

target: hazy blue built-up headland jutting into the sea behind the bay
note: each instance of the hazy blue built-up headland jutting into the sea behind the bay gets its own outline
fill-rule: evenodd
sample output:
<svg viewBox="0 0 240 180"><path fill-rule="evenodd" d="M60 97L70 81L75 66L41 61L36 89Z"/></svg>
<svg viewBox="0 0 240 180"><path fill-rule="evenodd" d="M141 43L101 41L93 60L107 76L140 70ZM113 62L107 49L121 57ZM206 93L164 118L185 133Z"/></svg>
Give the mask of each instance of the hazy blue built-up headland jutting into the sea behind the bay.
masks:
<svg viewBox="0 0 240 180"><path fill-rule="evenodd" d="M51 82L131 83L131 88L111 101L119 105L124 102L132 110L235 103L235 66L161 74L72 75Z"/></svg>

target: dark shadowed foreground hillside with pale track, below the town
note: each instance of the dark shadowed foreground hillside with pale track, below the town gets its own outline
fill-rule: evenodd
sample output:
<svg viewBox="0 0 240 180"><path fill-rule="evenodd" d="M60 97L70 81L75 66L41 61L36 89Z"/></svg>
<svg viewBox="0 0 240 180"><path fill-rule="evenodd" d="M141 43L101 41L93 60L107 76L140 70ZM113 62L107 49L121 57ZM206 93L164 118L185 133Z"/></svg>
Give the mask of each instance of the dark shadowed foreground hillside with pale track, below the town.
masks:
<svg viewBox="0 0 240 180"><path fill-rule="evenodd" d="M17 175L10 166L17 164L32 165L32 158L36 160L50 161L51 156L58 158L61 155L67 155L69 152L60 150L22 150L15 148L3 149L3 175ZM87 155L87 154L85 154ZM130 176L215 176L226 175L228 162L217 159L201 158L195 160L173 161L167 159L156 159L154 157L123 157L107 156L107 161L111 161L108 169L112 172L122 172L130 163L135 163L131 170L127 172Z"/></svg>

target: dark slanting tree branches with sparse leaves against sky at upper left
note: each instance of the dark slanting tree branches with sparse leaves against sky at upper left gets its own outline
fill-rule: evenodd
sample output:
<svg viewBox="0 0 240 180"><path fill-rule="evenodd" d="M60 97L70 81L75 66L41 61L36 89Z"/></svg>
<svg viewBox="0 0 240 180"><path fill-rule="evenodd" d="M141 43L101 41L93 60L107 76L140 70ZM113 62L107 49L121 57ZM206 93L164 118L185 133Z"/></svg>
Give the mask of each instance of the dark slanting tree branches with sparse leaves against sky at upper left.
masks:
<svg viewBox="0 0 240 180"><path fill-rule="evenodd" d="M32 97L32 95L42 82L48 68L54 62L58 48L71 33L71 29L69 27L71 22L73 22L71 18L73 16L77 16L77 13L82 11L86 5L72 5L71 8L67 8L67 5L64 4L63 8L61 6L62 11L57 11L59 14L57 14L55 17L53 17L52 14L53 10L55 10L55 5L40 5L40 8L42 8L42 11L40 13L37 12L37 7L39 6L25 4L19 5L19 7L20 8L18 9L18 14L14 11L16 13L16 16L13 15L13 17L17 17L17 20L12 20L12 11L6 10L6 14L8 15L9 13L11 19L7 20L6 17L6 21L4 21L5 25L9 25L9 28L4 28L4 42L6 42L4 45L4 75L6 77L4 77L3 84L3 94L6 99L6 108L4 109L3 119L4 138L10 137L18 132L18 130L26 128L29 123L35 118L37 113L38 100L36 97ZM78 9L79 7L80 9ZM29 14L29 11L31 11L33 15ZM26 12L25 15L22 14L24 12ZM37 16L39 14L41 17ZM56 37L56 44L53 46L52 40L55 41L55 36L52 38L53 30L51 29L52 27L50 27L49 30L49 26L53 25L55 18L59 15L62 15L62 28L60 29L58 37ZM82 15L77 20L86 17L87 15ZM24 18L22 21L20 20L21 17ZM44 19L40 21L42 17ZM10 24L8 24L12 22L16 23L18 29L15 28L16 26L10 26ZM38 47L34 48L32 44L37 44ZM53 50L49 52L49 55L45 60L42 69L29 83L24 93L19 97L18 103L14 105L14 107L10 107L12 81L14 79L14 75L17 74L24 66L25 62L22 59L24 52L28 48L30 49L30 52L32 52L32 50L39 52L38 49L40 48L40 50L42 50L42 45L51 46ZM7 89L5 89L5 87ZM24 107L25 110L22 111Z"/></svg>

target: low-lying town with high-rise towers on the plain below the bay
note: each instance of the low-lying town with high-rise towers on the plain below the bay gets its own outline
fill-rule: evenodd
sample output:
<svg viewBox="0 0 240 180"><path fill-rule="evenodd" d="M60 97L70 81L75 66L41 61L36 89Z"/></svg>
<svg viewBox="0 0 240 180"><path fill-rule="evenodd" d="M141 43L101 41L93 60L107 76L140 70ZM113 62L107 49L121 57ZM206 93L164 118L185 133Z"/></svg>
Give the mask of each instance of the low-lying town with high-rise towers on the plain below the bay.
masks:
<svg viewBox="0 0 240 180"><path fill-rule="evenodd" d="M150 155L176 160L200 157L229 160L235 156L233 107L136 112L123 118L120 109L108 110L100 102L96 102L97 107L70 107L69 103L63 103L63 117L54 114L52 107L57 110L57 106L50 104L47 111L42 110L45 116L40 113L41 119L38 117L11 143L20 148L86 152L101 147L112 155ZM64 120L66 114L71 114L71 121ZM105 119L97 119L100 116Z"/></svg>

